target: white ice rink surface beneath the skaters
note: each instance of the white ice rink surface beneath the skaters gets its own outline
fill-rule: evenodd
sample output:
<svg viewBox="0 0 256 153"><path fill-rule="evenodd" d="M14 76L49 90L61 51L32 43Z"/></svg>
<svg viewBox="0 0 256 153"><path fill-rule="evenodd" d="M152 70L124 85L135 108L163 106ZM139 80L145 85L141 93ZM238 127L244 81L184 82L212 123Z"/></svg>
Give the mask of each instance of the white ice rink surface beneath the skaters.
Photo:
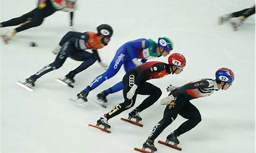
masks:
<svg viewBox="0 0 256 153"><path fill-rule="evenodd" d="M255 15L249 17L238 32L229 23L218 25L218 17L254 5L252 0L80 0L75 12L76 31L96 31L100 23L108 23L114 36L108 46L99 50L101 59L109 63L117 48L136 38L170 37L174 52L186 57L187 66L179 75L168 75L150 82L162 89L161 98L175 86L202 78L214 78L219 67L228 67L235 81L227 91L191 100L200 111L202 121L179 137L182 152L255 152ZM35 8L36 1L1 1L1 21L20 16ZM73 153L73 152L136 152L162 118L165 107L157 101L140 113L143 127L121 121L132 110L112 118L111 134L89 127L114 105L123 101L122 92L108 96L108 108L92 101L87 107L68 99L75 97L103 69L96 62L76 75L75 88L55 81L80 62L68 59L63 66L41 77L29 92L15 84L23 81L55 56L52 49L69 31L69 14L56 12L37 28L18 33L8 45L1 44L1 150L3 153ZM2 33L13 29L0 29ZM37 47L30 47L34 41ZM155 59L165 61L166 58ZM105 81L89 96L119 82L124 69ZM145 96L138 96L138 106ZM178 116L156 139L165 137L185 119ZM155 142L157 152L180 152Z"/></svg>

